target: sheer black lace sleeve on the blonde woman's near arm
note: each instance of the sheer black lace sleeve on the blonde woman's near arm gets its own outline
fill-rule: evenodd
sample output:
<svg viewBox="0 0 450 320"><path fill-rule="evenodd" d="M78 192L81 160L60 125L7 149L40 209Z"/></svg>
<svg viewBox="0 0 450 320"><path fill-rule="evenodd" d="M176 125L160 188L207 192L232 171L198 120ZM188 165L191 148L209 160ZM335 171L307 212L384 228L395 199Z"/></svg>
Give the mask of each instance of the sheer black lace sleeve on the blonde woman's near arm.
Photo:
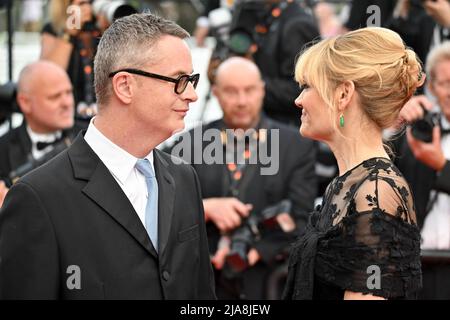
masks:
<svg viewBox="0 0 450 320"><path fill-rule="evenodd" d="M350 200L341 237L321 273L344 290L385 298L415 298L421 286L420 233L403 179L368 179ZM339 250L336 250L336 249ZM332 270L330 272L330 270Z"/></svg>

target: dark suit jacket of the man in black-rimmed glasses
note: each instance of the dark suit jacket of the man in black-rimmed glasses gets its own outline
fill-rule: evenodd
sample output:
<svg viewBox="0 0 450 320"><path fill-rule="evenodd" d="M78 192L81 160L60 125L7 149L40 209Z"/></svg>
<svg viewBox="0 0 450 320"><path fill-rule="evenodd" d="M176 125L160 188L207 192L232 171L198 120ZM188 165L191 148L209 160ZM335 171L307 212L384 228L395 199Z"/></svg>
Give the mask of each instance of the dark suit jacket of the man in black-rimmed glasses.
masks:
<svg viewBox="0 0 450 320"><path fill-rule="evenodd" d="M81 134L14 184L0 211L0 298L215 298L196 174L158 150L154 166L158 255ZM67 285L71 266L79 267L81 289Z"/></svg>

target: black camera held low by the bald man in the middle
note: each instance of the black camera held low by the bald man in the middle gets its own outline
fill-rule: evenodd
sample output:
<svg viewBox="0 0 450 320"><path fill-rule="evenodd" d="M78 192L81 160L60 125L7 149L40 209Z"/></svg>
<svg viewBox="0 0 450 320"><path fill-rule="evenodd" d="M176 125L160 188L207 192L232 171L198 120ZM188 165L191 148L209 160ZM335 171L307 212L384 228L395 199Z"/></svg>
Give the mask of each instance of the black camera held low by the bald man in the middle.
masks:
<svg viewBox="0 0 450 320"><path fill-rule="evenodd" d="M280 214L289 214L291 208L292 202L290 200L282 200L273 206L267 207L259 215L250 215L247 220L232 233L230 253L226 257L224 267L225 275L228 278L233 278L248 268L247 254L253 247L253 244L261 239L265 231L275 230L276 228L280 228L286 232L292 230L286 230L286 227L281 225L277 219Z"/></svg>

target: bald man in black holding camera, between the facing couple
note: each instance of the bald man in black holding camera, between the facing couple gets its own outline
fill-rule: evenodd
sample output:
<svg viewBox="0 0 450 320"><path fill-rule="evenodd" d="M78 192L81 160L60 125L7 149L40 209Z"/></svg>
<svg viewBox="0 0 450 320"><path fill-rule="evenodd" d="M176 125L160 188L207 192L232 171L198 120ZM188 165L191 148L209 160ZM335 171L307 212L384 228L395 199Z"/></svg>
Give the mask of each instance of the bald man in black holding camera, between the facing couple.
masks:
<svg viewBox="0 0 450 320"><path fill-rule="evenodd" d="M183 153L200 179L218 297L277 299L281 292L277 285L284 285L283 262L289 244L303 231L313 209L315 147L298 130L261 112L264 82L250 60L225 60L218 68L213 93L223 118L186 133L171 152ZM243 143L241 149L230 148L234 139ZM264 150L270 157L263 156ZM241 152L246 161L239 162ZM277 211L277 222L267 226L262 212L283 200L290 201L292 208ZM245 238L251 219L259 221L260 235ZM233 246L240 240L247 242L248 251L240 258L247 254L242 261L248 265L242 270L240 260L233 261L237 257Z"/></svg>

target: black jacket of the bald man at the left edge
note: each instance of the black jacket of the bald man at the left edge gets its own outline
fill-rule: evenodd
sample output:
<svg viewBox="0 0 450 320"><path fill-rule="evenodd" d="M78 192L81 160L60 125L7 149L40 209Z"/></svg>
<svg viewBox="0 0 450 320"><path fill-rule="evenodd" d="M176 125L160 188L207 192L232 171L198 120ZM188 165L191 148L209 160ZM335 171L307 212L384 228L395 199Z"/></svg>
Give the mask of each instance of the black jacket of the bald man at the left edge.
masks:
<svg viewBox="0 0 450 320"><path fill-rule="evenodd" d="M73 141L82 129L85 129L85 125L76 123L71 129L63 130L63 135ZM31 147L25 120L0 138L0 180L11 184L8 178L10 172L33 159Z"/></svg>

